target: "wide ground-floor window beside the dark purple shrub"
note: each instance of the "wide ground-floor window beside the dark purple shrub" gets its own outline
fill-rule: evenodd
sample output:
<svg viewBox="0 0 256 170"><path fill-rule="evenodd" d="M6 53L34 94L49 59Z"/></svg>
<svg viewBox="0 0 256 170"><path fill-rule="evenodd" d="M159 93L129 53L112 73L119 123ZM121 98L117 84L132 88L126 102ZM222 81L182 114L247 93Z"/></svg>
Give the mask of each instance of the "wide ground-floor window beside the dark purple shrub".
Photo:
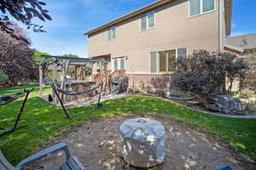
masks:
<svg viewBox="0 0 256 170"><path fill-rule="evenodd" d="M176 48L172 50L150 53L150 72L172 72L175 71L177 57L186 57L187 48Z"/></svg>

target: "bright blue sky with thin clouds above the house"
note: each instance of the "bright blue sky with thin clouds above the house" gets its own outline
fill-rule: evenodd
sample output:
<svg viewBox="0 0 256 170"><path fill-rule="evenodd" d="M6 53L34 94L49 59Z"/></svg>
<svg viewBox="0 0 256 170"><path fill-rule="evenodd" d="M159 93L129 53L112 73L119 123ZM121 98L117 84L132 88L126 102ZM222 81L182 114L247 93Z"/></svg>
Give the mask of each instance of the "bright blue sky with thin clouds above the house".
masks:
<svg viewBox="0 0 256 170"><path fill-rule="evenodd" d="M83 35L155 0L45 0L52 21L44 25L46 33L28 31L32 48L54 55L79 54L87 57L87 39ZM233 0L232 36L256 33L256 0Z"/></svg>

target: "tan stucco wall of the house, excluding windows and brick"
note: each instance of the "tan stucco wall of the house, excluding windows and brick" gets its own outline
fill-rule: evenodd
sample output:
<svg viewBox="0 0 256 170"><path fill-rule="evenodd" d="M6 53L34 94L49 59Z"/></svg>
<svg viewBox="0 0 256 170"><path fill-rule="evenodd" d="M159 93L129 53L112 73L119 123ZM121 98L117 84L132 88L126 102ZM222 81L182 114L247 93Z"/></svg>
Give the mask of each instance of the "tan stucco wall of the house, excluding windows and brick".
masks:
<svg viewBox="0 0 256 170"><path fill-rule="evenodd" d="M128 56L127 72L149 73L149 54L172 48L218 50L218 10L189 17L189 2L177 0L154 10L155 28L140 30L140 16L116 26L116 38L107 41L107 30L89 36L90 57ZM218 8L218 4L216 4Z"/></svg>

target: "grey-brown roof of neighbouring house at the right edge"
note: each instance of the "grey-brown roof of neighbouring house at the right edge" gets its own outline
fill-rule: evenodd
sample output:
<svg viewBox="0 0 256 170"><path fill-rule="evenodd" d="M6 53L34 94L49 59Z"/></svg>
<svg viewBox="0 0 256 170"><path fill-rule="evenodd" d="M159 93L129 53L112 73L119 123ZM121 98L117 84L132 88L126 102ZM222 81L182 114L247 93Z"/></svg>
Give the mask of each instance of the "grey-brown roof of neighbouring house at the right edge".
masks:
<svg viewBox="0 0 256 170"><path fill-rule="evenodd" d="M228 37L226 42L230 45L244 48L244 49L253 49L256 48L256 33L255 34L246 34L236 37Z"/></svg>

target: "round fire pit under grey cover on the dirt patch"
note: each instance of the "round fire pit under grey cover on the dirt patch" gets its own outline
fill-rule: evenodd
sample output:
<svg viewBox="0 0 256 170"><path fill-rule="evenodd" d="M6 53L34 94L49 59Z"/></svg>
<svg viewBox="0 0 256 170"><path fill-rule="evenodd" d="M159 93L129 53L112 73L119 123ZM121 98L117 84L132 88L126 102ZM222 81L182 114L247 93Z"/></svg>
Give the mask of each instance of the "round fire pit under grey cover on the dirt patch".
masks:
<svg viewBox="0 0 256 170"><path fill-rule="evenodd" d="M121 154L134 167L154 167L164 161L166 130L148 118L128 119L119 128L122 138Z"/></svg>

